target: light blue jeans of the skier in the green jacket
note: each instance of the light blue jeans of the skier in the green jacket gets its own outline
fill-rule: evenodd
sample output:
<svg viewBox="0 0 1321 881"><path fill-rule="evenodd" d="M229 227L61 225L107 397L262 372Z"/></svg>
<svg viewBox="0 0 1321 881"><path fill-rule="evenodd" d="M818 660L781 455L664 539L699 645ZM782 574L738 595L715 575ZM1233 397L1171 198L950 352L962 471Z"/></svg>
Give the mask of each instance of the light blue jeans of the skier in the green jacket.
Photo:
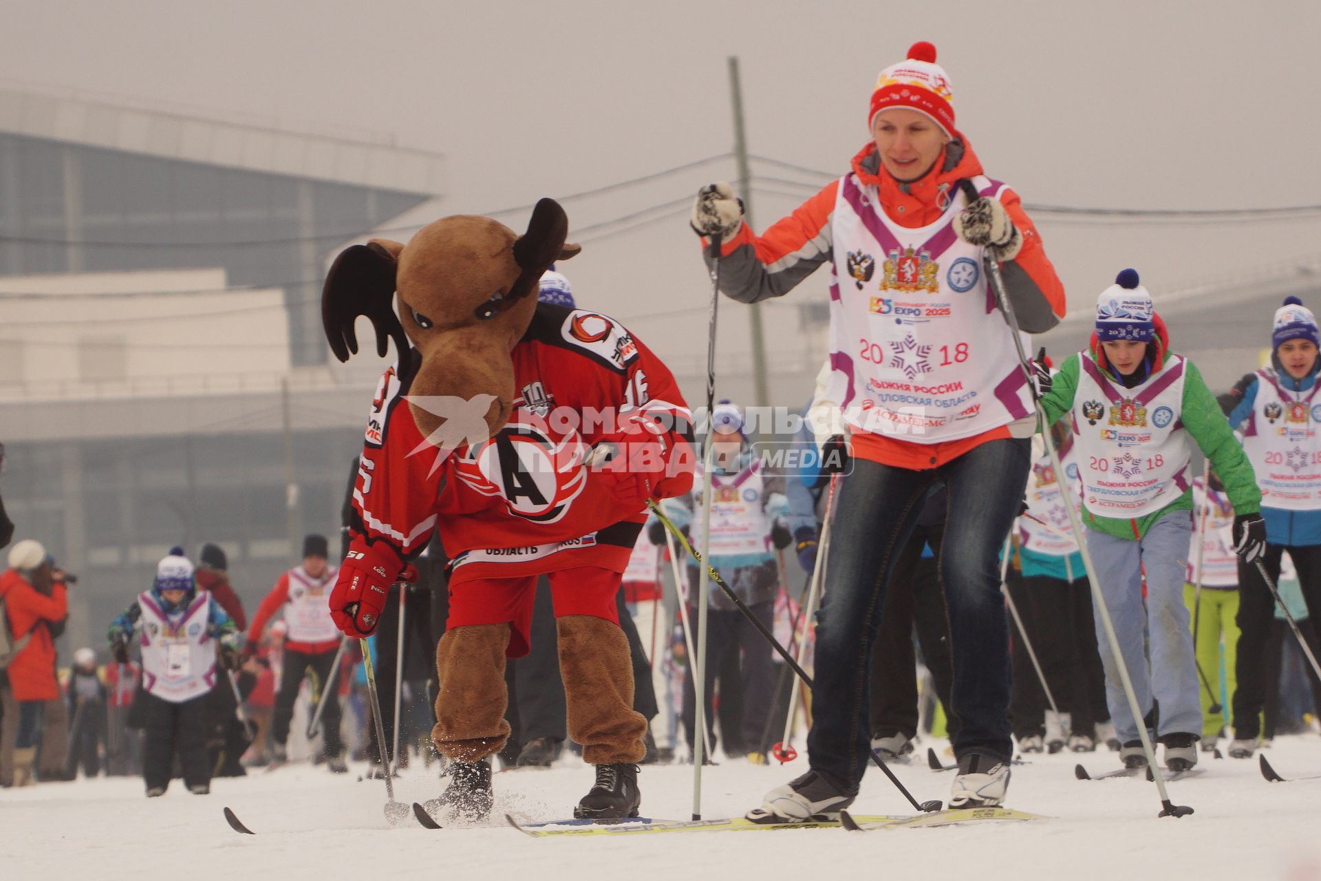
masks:
<svg viewBox="0 0 1321 881"><path fill-rule="evenodd" d="M1153 700L1160 704L1156 734L1201 734L1202 704L1193 652L1192 618L1184 605L1184 576L1193 534L1190 511L1170 511L1147 535L1120 539L1085 528L1087 551L1096 567L1096 581L1110 622L1119 639L1124 666L1133 680L1137 705L1151 721ZM1143 569L1147 569L1147 600L1143 601ZM1096 645L1106 667L1106 703L1123 742L1137 740L1115 652L1106 638L1100 613L1092 609ZM1151 660L1148 662L1148 652Z"/></svg>

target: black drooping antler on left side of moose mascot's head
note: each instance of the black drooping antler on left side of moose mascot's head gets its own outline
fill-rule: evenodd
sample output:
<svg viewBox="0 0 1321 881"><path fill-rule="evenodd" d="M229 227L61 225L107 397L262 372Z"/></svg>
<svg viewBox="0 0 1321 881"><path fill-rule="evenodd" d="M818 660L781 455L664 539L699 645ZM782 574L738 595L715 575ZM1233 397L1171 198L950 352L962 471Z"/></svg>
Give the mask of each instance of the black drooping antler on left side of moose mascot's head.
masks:
<svg viewBox="0 0 1321 881"><path fill-rule="evenodd" d="M395 314L395 269L403 246L398 242L373 239L367 244L345 248L330 265L321 291L321 326L330 351L339 361L358 354L354 322L366 316L376 329L376 354L390 351L395 341L400 358L408 351L408 337Z"/></svg>

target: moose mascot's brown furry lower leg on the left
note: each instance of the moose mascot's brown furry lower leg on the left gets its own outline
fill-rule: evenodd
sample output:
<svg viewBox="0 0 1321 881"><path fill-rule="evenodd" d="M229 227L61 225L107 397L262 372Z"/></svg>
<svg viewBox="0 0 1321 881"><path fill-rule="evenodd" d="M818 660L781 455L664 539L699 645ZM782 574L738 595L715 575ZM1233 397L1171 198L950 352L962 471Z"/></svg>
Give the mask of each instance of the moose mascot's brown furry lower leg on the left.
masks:
<svg viewBox="0 0 1321 881"><path fill-rule="evenodd" d="M505 748L507 623L446 630L436 646L436 726L431 741L456 762L478 762Z"/></svg>

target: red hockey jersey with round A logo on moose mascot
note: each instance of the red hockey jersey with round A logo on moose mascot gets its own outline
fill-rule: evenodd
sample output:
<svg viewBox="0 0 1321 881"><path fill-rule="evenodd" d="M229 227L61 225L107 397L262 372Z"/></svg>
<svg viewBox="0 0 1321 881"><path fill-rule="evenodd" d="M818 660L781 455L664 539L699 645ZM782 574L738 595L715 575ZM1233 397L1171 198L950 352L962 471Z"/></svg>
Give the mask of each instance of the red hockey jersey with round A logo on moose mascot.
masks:
<svg viewBox="0 0 1321 881"><path fill-rule="evenodd" d="M538 305L513 351L509 424L453 452L428 442L408 407L419 358L410 350L376 390L353 491L354 538L388 542L407 559L439 531L452 582L580 565L624 572L646 509L621 503L616 478L585 462L621 411L649 416L668 450L654 495L692 486L692 417L678 383L613 318Z"/></svg>

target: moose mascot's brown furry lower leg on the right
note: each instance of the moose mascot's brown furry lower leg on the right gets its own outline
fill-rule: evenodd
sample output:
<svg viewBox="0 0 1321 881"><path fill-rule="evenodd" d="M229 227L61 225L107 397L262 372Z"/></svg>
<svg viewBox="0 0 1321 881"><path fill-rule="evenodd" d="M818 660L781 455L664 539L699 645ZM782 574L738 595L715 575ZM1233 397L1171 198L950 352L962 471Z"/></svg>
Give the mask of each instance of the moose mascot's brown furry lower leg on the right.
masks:
<svg viewBox="0 0 1321 881"><path fill-rule="evenodd" d="M633 660L620 626L593 616L556 618L569 737L588 765L639 762L647 720L633 712Z"/></svg>

